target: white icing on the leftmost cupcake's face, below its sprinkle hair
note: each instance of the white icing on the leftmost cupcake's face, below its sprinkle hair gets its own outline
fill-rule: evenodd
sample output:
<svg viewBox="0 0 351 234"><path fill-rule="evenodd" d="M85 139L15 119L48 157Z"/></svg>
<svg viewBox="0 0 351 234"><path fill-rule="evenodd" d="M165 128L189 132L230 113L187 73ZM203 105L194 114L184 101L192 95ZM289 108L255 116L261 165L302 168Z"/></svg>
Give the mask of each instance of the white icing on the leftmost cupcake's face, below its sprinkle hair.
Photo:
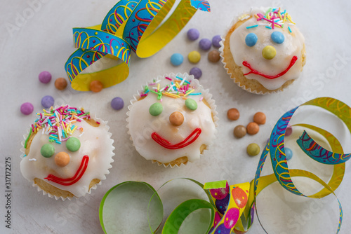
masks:
<svg viewBox="0 0 351 234"><path fill-rule="evenodd" d="M84 135L81 135L81 137L79 137L81 134L79 130L74 131L72 134L72 137L77 137L81 142L79 150L75 152L68 151L65 142L62 142L62 144L51 143L55 147L55 153L51 158L44 158L40 153L41 146L49 143L48 135L43 135L41 131L37 132L32 144L30 144L28 155L22 158L20 162L20 170L23 177L29 181L33 181L34 178L42 179L48 184L73 193L76 197L84 196L88 193L91 180L106 179L105 174L110 173L109 169L112 167L111 163L114 161L112 159L114 155L112 152L114 149L112 146L113 140L110 138L111 133L108 132L109 127L106 123L100 121L98 127L93 127L86 123L86 121L74 123L74 125L82 127L84 130ZM55 165L55 154L61 151L65 151L70 157L70 161L65 167ZM73 177L79 165L81 165L83 156L86 155L89 157L88 167L77 183L63 186L44 179L48 177L48 174L53 174L60 178ZM31 160L33 158L36 160Z"/></svg>

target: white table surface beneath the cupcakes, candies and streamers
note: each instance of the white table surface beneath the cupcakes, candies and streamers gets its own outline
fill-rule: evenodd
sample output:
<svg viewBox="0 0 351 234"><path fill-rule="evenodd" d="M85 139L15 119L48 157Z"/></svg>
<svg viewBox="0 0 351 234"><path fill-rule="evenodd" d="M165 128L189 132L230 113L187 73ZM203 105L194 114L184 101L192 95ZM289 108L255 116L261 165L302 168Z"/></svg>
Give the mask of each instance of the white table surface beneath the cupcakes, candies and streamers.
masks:
<svg viewBox="0 0 351 234"><path fill-rule="evenodd" d="M29 10L32 7L29 3L32 2L36 3L34 13ZM247 156L246 146L257 142L263 147L274 123L283 112L313 97L335 97L351 104L350 1L210 0L210 3L211 13L197 12L183 31L156 55L140 59L133 54L126 81L99 93L77 92L70 87L58 91L53 81L60 76L67 77L64 64L74 51L72 27L99 24L115 1L15 0L1 4L0 233L102 233L98 219L100 200L112 186L123 181L146 181L155 188L169 179L179 177L197 179L201 183L222 179L227 179L230 184L251 181L258 157ZM205 88L211 88L220 118L216 142L211 151L207 151L196 163L173 169L159 167L140 157L126 133L125 121L127 106L135 91L158 75L190 71L193 65L186 58L180 67L173 67L169 62L173 53L182 53L186 57L190 51L198 50L198 41L187 41L187 29L196 27L201 33L200 38L211 39L216 34L223 34L234 16L249 10L251 6L281 6L298 23L300 31L305 35L307 51L307 64L300 78L284 92L253 95L235 85L220 62L212 64L206 58L207 53L200 52L202 57L197 64L203 71L200 81ZM25 20L21 20L23 16ZM37 76L43 70L50 71L53 75L51 83L38 81ZM42 109L41 97L44 95L53 96L55 104L66 102L72 106L84 106L97 113L98 117L109 121L116 147L115 161L107 179L85 198L72 201L48 198L37 192L37 188L33 188L20 173L20 142L34 119L34 113L22 115L20 105L32 102L34 112L39 111ZM111 99L117 96L125 102L120 111L114 111L110 106ZM236 122L230 122L226 117L227 109L232 107L241 113ZM263 111L267 115L267 123L258 135L234 139L234 126L249 123L256 111ZM333 132L334 128L329 128ZM350 152L351 144L345 137L347 134L335 129L333 133L340 137L345 151ZM12 167L11 229L5 228L4 223L6 157L11 158ZM330 176L330 167L328 168L320 174L328 172ZM336 191L343 205L343 226L340 233L349 233L351 229L350 175L350 163L347 163L344 181ZM325 177L327 180L328 176ZM303 186L304 182L301 184ZM166 200L164 198L164 203ZM258 212L269 233L336 233L336 199L328 196L324 200L326 202L318 205L313 203L315 201L291 198L279 185L274 184L259 196ZM264 233L257 219L249 233Z"/></svg>

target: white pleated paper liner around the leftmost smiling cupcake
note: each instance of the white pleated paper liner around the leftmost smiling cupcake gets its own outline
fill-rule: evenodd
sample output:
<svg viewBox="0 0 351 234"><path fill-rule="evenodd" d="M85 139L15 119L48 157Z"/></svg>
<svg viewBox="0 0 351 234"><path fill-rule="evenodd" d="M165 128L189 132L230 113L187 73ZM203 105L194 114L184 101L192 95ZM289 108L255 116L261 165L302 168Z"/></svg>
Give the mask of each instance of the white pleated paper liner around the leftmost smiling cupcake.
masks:
<svg viewBox="0 0 351 234"><path fill-rule="evenodd" d="M60 106L55 106L54 109L57 109L58 107L60 107ZM113 160L114 152L113 152L113 151L114 151L114 149L115 149L114 146L113 146L114 139L111 138L111 137L112 137L112 133L109 131L109 130L110 130L110 126L107 125L108 121L103 121L101 118L97 118L96 115L95 115L95 113L94 113L94 116L91 116L91 118L92 118L94 121L98 121L98 122L100 123L101 126L104 126L104 127L105 127L104 130L107 132L107 135L109 136L112 149L111 149L109 167L107 167L107 169L106 169L105 172L104 172L105 177L104 177L103 179L100 179L100 182L99 182L98 184L95 184L94 186L92 186L91 188L89 188L87 194L91 194L91 191L92 191L93 189L98 188L98 185L101 185L101 184L102 184L102 180L105 180L105 179L106 179L106 175L107 175L107 174L110 174L110 169L112 168L112 165L111 165L111 164L114 162L114 160ZM27 137L28 137L28 135L29 135L29 131L30 131L30 128L27 129L27 134L26 134L26 135L23 135L23 138L24 138L24 139L27 139ZM23 141L21 142L21 145L22 145L22 148L20 149L20 151L21 151L21 156L20 156L20 158L24 158L24 156L25 156L25 140L23 140ZM25 178L25 179L26 179L26 178ZM39 179L40 179L40 178L39 178ZM28 181L32 181L32 180L28 180ZM42 188L40 188L37 184L35 184L34 181L32 181L32 182L33 182L32 186L33 186L33 187L37 187L37 191L38 191L38 192L42 191L42 192L43 192L43 195L48 195L49 198L55 198L55 200L59 200L59 199L62 199L62 200L66 200L66 199L67 199L67 200L72 200L72 198L75 198L75 199L80 198L80 197L77 197L77 196L75 196L75 195L74 195L72 198L71 198L71 197L63 198L63 197L61 197L61 196L53 195L53 194L51 194L51 193L48 193L48 192L44 191L44 190L43 190ZM51 185L52 185L52 186L55 186L55 185L53 185L53 184L51 184ZM60 189L60 188L59 188L59 189ZM81 196L81 197L84 197L84 196Z"/></svg>

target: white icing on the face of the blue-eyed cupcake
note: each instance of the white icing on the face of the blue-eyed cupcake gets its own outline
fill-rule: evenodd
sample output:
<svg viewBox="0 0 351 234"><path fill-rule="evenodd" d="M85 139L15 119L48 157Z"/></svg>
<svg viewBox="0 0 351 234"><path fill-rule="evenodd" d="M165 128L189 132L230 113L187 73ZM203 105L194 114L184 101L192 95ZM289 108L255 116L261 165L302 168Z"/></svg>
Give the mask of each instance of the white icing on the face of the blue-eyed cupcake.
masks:
<svg viewBox="0 0 351 234"><path fill-rule="evenodd" d="M302 51L305 39L303 34L300 33L298 27L286 22L283 28L274 27L274 29L267 29L265 25L258 25L246 29L246 27L266 24L267 21L257 21L253 16L256 13L265 15L267 9L255 9L251 12L252 18L244 22L243 25L238 27L232 32L230 36L230 51L234 58L234 62L242 67L243 74L251 71L249 68L244 67L242 62L247 61L251 64L253 69L260 71L263 74L274 76L284 71L291 62L291 58L295 55L298 57L296 63L286 72L283 76L274 79L268 79L258 74L248 74L245 77L260 82L268 90L280 88L286 81L296 79L300 75L303 68ZM288 26L291 28L289 32ZM274 31L279 31L284 34L285 40L281 44L274 43L271 39L271 34ZM255 46L246 46L245 37L249 33L254 33L258 36L258 41ZM277 55L272 60L266 60L262 56L262 50L265 46L273 46L277 50Z"/></svg>

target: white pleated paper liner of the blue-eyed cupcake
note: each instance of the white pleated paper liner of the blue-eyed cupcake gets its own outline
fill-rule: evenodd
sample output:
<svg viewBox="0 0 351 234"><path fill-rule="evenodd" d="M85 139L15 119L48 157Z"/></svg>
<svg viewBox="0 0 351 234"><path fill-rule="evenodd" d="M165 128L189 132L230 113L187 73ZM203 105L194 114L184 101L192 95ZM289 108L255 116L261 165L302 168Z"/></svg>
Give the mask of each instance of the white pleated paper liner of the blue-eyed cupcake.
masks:
<svg viewBox="0 0 351 234"><path fill-rule="evenodd" d="M263 7L261 7L263 8ZM252 11L252 8L251 10L248 12L248 11L244 11L242 12L241 14L239 15L251 15L251 11ZM277 92L282 92L283 90L285 90L286 88L288 88L292 83L293 81L295 80L289 80L290 83L286 85L286 87L284 87L284 85L286 83L284 83L280 88L277 88L276 90L268 90L266 92L263 92L263 91L257 91L257 90L252 90L249 86L245 87L245 84L244 83L241 83L240 81L237 81L237 77L234 76L234 74L232 74L229 70L229 65L224 61L225 60L225 57L224 57L224 42L225 42L225 37L227 36L227 34L230 32L230 29L232 29L232 27L237 23L239 22L239 16L234 18L232 20L232 22L230 23L229 26L227 26L227 29L225 30L225 34L223 34L221 37L221 41L220 41L220 48L218 49L220 51L220 61L222 62L223 64L223 67L225 69L225 71L227 72L227 74L230 76L230 78L232 79L232 81L234 81L234 83L236 83L240 88L242 88L243 90L246 90L247 92L251 92L251 93L254 93L256 95L267 95L267 94L273 94L273 93L277 93ZM237 65L239 66L239 65ZM239 66L241 67L241 66ZM244 76L244 74L243 74ZM246 78L246 77L245 77ZM246 78L247 79L247 78ZM249 80L249 79L248 79ZM289 82L287 81L287 82Z"/></svg>

